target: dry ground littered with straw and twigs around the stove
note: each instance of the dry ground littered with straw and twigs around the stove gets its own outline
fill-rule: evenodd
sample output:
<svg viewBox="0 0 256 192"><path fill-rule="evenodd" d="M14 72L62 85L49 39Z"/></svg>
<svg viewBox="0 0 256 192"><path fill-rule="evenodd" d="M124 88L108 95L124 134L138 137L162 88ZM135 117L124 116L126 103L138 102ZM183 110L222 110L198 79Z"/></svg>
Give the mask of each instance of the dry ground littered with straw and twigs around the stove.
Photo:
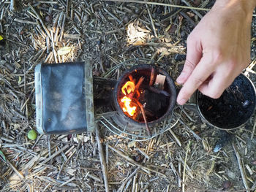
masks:
<svg viewBox="0 0 256 192"><path fill-rule="evenodd" d="M105 191L94 133L27 138L36 128L34 66L89 59L94 76L116 79L119 64L146 58L175 79L184 64L187 36L206 11L163 4L208 9L214 1L158 2L24 0L12 9L11 1L1 0L0 191ZM248 75L256 83L253 67ZM124 138L127 134L114 134L99 123L110 191L245 191L241 170L255 191L254 115L228 137L203 123L192 108L178 114L173 128L147 141ZM214 152L221 138L228 142Z"/></svg>

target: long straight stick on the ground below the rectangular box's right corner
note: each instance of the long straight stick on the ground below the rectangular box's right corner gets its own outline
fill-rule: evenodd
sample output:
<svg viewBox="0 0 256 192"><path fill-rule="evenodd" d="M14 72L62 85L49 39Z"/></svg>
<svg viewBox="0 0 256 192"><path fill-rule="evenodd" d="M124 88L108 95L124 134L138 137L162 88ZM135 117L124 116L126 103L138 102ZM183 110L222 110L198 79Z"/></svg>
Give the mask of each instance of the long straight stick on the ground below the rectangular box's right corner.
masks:
<svg viewBox="0 0 256 192"><path fill-rule="evenodd" d="M103 155L102 144L100 142L99 124L98 123L95 126L95 134L96 134L98 150L99 150L99 160L100 160L100 164L102 166L102 174L103 174L103 178L104 178L105 191L109 192L109 187L108 187L108 170L107 170L107 166L106 166L106 162L105 162L105 157Z"/></svg>

